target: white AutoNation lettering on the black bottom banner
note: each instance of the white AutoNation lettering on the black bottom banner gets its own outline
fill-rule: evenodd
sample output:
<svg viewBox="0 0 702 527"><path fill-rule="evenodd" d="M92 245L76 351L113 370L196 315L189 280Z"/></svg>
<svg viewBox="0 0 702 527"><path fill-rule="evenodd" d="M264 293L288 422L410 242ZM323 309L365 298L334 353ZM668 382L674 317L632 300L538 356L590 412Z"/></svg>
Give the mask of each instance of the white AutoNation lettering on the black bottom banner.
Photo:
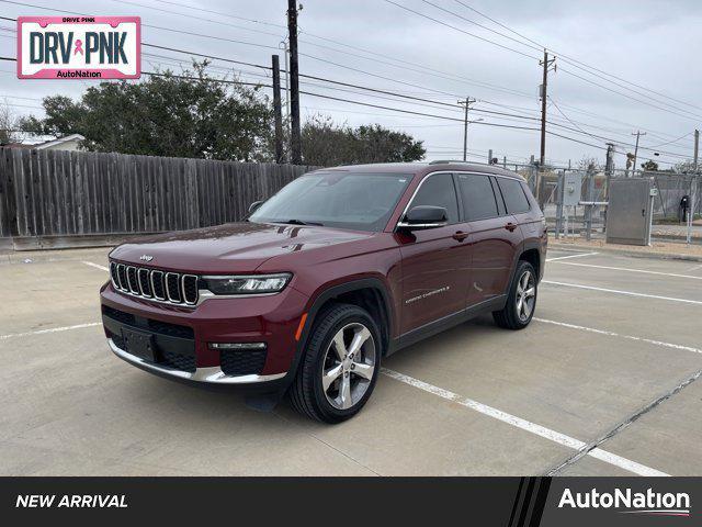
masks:
<svg viewBox="0 0 702 527"><path fill-rule="evenodd" d="M690 516L690 495L687 492L632 492L631 489L615 489L614 492L576 492L565 489L558 508L615 508L622 514L652 516Z"/></svg>

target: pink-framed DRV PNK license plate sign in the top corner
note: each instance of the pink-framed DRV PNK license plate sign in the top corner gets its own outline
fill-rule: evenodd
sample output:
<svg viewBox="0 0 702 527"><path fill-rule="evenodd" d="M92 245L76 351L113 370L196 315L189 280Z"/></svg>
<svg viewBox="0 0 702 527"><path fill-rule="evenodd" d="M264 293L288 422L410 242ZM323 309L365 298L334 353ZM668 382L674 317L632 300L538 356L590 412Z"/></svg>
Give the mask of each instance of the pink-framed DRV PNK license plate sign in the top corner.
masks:
<svg viewBox="0 0 702 527"><path fill-rule="evenodd" d="M139 16L19 16L21 79L137 79Z"/></svg>

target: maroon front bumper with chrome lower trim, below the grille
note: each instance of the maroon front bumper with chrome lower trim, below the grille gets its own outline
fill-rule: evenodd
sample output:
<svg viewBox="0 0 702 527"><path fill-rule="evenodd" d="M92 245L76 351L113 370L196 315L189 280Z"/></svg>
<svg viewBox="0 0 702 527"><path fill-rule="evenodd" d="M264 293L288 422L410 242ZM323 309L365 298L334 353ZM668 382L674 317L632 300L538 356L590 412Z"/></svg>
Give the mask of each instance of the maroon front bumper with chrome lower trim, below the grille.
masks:
<svg viewBox="0 0 702 527"><path fill-rule="evenodd" d="M275 295L213 298L191 309L128 296L110 282L100 295L109 346L126 362L174 380L261 389L286 382L283 379L294 363L296 332L307 303L306 296L290 287ZM134 349L129 352L125 330L150 335L154 359L144 359ZM218 350L211 343L264 343L265 348Z"/></svg>

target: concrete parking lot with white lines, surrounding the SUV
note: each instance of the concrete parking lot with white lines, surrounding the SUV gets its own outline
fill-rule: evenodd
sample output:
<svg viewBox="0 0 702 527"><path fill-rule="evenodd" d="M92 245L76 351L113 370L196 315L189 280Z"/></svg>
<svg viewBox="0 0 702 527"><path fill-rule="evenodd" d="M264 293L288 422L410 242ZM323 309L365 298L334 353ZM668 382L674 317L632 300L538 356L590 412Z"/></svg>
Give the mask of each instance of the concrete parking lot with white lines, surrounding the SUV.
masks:
<svg viewBox="0 0 702 527"><path fill-rule="evenodd" d="M106 254L0 261L2 475L702 474L702 264L550 250L530 327L407 348L328 426L115 358Z"/></svg>

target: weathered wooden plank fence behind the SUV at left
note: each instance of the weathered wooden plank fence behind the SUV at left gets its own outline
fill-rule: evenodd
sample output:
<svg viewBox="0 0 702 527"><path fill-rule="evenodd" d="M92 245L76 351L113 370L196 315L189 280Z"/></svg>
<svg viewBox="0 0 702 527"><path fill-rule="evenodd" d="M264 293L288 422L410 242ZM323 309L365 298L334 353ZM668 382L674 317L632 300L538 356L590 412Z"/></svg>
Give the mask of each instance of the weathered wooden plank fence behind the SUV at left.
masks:
<svg viewBox="0 0 702 527"><path fill-rule="evenodd" d="M131 235L240 220L315 167L0 148L0 237Z"/></svg>

